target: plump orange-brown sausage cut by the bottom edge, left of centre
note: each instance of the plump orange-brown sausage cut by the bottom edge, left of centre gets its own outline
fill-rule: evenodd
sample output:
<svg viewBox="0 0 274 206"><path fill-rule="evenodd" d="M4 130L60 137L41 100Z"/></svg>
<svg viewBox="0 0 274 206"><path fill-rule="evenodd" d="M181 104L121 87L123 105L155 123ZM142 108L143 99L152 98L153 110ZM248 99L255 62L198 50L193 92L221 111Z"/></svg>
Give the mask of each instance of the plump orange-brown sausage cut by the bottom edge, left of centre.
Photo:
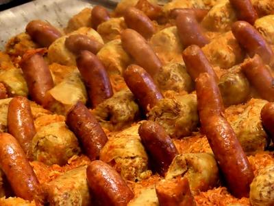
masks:
<svg viewBox="0 0 274 206"><path fill-rule="evenodd" d="M86 176L96 205L126 206L134 197L120 174L103 161L92 161L86 169Z"/></svg>

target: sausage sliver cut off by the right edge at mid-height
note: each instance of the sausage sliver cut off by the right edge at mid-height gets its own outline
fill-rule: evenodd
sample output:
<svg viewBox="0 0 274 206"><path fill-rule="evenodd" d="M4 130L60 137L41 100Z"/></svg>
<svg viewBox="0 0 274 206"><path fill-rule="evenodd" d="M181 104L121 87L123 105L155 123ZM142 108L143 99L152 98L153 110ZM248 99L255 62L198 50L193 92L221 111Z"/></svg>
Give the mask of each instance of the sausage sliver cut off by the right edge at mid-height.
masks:
<svg viewBox="0 0 274 206"><path fill-rule="evenodd" d="M264 105L261 111L262 126L274 141L274 102Z"/></svg>

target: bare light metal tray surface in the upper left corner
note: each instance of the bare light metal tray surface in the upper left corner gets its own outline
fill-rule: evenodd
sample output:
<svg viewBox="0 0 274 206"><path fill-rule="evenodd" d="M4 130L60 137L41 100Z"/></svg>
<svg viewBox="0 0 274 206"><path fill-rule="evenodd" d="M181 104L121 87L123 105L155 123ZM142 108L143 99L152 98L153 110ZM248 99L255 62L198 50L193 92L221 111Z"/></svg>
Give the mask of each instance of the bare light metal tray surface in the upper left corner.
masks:
<svg viewBox="0 0 274 206"><path fill-rule="evenodd" d="M83 8L103 5L113 9L118 0L36 0L0 12L0 50L16 34L25 31L29 21L42 19L55 27L66 27L69 19Z"/></svg>

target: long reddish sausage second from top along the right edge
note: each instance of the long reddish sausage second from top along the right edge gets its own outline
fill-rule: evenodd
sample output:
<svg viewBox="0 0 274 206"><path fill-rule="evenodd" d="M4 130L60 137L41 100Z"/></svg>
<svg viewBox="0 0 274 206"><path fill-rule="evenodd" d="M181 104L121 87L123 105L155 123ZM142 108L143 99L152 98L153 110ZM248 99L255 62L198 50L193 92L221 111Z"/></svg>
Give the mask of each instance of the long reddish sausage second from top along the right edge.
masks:
<svg viewBox="0 0 274 206"><path fill-rule="evenodd" d="M273 64L274 58L271 46L251 24L245 21L236 21L232 25L232 33L249 56L253 57L258 54L264 60L264 63L267 65Z"/></svg>

